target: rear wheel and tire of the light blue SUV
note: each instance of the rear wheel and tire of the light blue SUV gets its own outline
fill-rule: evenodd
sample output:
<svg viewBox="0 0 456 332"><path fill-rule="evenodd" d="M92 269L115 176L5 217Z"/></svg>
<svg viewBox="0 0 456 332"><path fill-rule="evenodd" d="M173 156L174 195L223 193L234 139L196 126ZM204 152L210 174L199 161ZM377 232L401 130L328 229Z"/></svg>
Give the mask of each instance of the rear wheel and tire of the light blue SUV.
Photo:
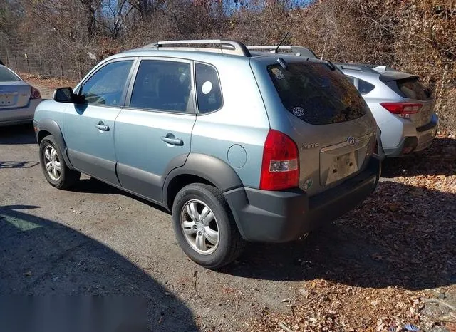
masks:
<svg viewBox="0 0 456 332"><path fill-rule="evenodd" d="M244 250L245 241L227 201L210 185L192 184L182 188L172 204L172 223L185 254L207 269L219 269L231 263Z"/></svg>

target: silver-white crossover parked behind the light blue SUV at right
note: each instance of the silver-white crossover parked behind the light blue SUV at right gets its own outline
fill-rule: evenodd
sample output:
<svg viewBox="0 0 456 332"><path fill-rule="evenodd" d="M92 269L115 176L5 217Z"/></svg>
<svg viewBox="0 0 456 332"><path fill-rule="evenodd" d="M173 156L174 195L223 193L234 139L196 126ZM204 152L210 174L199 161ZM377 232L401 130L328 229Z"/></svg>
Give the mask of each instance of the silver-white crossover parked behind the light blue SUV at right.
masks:
<svg viewBox="0 0 456 332"><path fill-rule="evenodd" d="M435 96L418 76L374 65L339 64L356 86L381 130L385 157L425 150L435 138Z"/></svg>

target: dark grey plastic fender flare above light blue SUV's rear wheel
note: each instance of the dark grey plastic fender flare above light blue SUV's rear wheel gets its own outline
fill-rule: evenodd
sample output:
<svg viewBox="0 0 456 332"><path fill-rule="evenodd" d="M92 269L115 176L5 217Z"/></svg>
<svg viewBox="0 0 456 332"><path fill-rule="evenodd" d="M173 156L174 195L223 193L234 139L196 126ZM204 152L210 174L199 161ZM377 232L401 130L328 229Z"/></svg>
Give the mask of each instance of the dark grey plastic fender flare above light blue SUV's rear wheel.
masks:
<svg viewBox="0 0 456 332"><path fill-rule="evenodd" d="M168 167L169 169L170 167ZM185 164L170 170L162 185L162 202L167 206L167 190L170 182L179 175L195 175L212 182L221 192L242 187L242 181L233 168L223 160L202 153L190 153ZM172 209L172 207L167 207Z"/></svg>

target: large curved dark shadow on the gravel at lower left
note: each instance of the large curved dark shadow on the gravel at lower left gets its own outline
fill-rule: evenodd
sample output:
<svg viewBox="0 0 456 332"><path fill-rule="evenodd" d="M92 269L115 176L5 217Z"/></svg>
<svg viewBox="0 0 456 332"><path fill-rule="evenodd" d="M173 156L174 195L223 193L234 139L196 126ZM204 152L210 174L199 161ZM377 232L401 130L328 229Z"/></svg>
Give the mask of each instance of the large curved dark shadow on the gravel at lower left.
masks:
<svg viewBox="0 0 456 332"><path fill-rule="evenodd" d="M92 301L100 304L106 299L105 303L111 307L115 301L133 304L138 299L145 301L148 328L152 331L197 330L190 309L179 299L165 294L166 290L157 281L104 244L57 222L33 216L31 213L38 208L0 207L0 294L3 298L51 295L57 296L52 298L55 301L65 296L64 299L76 303L76 295L95 295ZM51 305L55 303L51 301ZM129 310L124 309L122 313ZM81 311L80 306L76 306L77 312L71 316L81 314L78 310ZM119 321L117 315L109 318L111 323L116 319ZM109 331L143 331L138 327L120 327L114 326Z"/></svg>

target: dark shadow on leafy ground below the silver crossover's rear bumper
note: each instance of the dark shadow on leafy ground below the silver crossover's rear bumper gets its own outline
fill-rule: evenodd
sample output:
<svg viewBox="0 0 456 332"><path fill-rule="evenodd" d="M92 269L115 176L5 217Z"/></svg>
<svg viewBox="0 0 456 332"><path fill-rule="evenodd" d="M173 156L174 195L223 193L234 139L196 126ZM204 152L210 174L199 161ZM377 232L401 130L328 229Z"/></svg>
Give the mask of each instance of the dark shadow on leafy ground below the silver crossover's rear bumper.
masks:
<svg viewBox="0 0 456 332"><path fill-rule="evenodd" d="M456 140L436 138L429 149L408 157L387 158L382 166L382 177L455 175Z"/></svg>

